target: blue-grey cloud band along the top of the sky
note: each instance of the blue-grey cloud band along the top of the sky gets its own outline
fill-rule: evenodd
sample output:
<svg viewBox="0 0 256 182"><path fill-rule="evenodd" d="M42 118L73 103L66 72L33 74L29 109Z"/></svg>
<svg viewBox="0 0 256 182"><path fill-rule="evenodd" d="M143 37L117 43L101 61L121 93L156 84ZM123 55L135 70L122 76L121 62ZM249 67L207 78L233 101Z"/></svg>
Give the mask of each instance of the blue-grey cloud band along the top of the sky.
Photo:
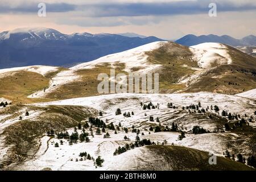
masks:
<svg viewBox="0 0 256 182"><path fill-rule="evenodd" d="M0 2L0 13L36 13L38 2L29 0L16 3ZM40 1L42 2L42 1ZM48 12L82 11L84 16L146 16L146 15L187 15L208 13L209 3L215 2L219 12L256 10L255 1L45 1ZM48 3L47 3L48 2ZM101 2L101 3L100 3Z"/></svg>

